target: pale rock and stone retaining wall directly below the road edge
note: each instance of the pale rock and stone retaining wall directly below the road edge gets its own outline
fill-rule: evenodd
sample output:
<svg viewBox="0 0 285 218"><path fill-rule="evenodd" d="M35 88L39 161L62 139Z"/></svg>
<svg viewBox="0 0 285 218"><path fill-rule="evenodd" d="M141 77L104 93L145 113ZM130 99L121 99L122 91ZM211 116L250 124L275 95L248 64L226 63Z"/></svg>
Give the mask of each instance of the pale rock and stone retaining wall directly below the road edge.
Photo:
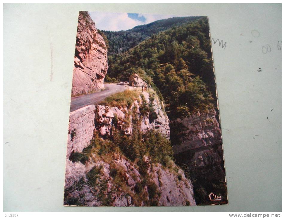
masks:
<svg viewBox="0 0 285 218"><path fill-rule="evenodd" d="M149 104L150 94L143 92L142 95L147 104ZM81 152L83 148L86 148L93 137L94 130L98 131L100 136L107 136L115 124L116 127L124 130L126 135L131 134L132 119L134 116L139 117L141 115L141 96L139 96L138 99L139 100L135 100L132 103L130 108L126 106L109 107L105 105L89 105L70 112L67 157L70 156L72 151ZM157 114L157 117L155 120L150 120L148 115L142 116L140 128L141 131L156 130L169 139L169 119L162 109L162 104L158 98L154 98L153 110Z"/></svg>

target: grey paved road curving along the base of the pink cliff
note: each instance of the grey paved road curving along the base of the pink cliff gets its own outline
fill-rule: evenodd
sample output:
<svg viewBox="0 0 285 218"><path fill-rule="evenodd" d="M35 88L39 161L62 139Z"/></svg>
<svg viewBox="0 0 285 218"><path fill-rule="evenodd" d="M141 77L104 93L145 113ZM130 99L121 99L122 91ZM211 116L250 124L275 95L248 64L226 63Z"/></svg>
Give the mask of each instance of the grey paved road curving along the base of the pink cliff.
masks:
<svg viewBox="0 0 285 218"><path fill-rule="evenodd" d="M72 97L69 112L83 108L87 105L95 105L116 92L126 90L126 87L122 85L104 84L104 86L106 89L103 91Z"/></svg>

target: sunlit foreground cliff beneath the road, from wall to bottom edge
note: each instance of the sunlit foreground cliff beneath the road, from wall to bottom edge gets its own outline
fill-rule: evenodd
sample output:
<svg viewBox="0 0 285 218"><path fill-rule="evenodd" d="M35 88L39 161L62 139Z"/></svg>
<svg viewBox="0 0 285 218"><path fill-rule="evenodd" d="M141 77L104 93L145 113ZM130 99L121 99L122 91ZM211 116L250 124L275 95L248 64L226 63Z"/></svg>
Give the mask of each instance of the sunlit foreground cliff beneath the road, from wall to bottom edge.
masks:
<svg viewBox="0 0 285 218"><path fill-rule="evenodd" d="M114 129L132 135L135 123L141 132L169 138L169 119L153 93L138 94L128 106L90 105L70 113L65 205L196 205L191 181L171 159L162 165L145 156L142 171L109 141Z"/></svg>

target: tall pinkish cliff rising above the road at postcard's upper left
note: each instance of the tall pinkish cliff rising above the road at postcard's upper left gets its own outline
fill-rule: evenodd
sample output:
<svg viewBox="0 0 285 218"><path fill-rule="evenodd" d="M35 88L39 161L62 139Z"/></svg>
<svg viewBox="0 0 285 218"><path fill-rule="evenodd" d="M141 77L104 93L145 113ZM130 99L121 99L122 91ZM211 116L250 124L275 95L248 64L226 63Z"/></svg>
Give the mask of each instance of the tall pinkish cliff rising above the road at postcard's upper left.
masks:
<svg viewBox="0 0 285 218"><path fill-rule="evenodd" d="M104 88L108 70L107 49L88 12L80 11L74 55L71 96Z"/></svg>

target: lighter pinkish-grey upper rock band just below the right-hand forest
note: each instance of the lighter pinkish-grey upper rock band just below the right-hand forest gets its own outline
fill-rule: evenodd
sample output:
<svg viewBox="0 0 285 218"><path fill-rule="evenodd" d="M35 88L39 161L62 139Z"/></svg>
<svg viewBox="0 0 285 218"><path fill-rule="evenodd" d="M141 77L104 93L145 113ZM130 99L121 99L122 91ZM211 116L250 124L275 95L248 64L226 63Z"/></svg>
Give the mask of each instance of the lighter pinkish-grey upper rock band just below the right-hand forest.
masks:
<svg viewBox="0 0 285 218"><path fill-rule="evenodd" d="M204 113L197 113L182 120L174 121L176 125L178 124L177 126L183 126L181 129L188 128L185 131L186 140L180 145L173 146L174 154L222 143L221 130L216 115L217 112L211 108Z"/></svg>

